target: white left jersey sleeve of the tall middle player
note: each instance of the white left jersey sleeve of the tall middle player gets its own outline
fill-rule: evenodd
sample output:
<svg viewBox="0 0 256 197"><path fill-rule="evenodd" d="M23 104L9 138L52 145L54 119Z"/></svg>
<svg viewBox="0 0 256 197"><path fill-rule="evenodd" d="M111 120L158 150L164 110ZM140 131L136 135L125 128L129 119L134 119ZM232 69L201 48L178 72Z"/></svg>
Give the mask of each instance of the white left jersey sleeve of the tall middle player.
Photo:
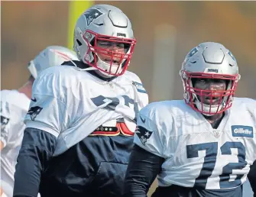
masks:
<svg viewBox="0 0 256 197"><path fill-rule="evenodd" d="M60 73L43 71L33 84L30 107L24 118L26 128L47 131L55 137L68 128L70 117L67 111L72 105L68 108L66 89Z"/></svg>

